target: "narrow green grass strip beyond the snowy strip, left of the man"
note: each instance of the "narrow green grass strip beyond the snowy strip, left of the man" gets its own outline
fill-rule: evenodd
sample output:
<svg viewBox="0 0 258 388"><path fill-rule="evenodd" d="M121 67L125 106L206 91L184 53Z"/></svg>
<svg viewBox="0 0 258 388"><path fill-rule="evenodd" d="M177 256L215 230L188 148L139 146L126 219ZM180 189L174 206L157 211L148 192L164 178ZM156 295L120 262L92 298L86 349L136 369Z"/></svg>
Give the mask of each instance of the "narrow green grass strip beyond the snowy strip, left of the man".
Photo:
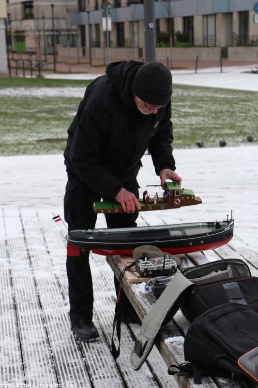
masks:
<svg viewBox="0 0 258 388"><path fill-rule="evenodd" d="M0 78L0 88L14 87L65 87L65 86L83 86L86 88L91 81L86 80L52 80L44 77L35 78ZM10 98L12 98L10 96Z"/></svg>

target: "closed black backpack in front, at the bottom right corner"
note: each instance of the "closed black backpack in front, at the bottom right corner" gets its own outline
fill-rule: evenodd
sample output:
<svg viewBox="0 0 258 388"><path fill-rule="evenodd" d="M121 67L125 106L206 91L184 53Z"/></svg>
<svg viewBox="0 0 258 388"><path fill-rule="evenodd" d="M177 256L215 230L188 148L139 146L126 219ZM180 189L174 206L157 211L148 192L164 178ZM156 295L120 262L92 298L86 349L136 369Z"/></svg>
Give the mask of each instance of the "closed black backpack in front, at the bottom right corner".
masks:
<svg viewBox="0 0 258 388"><path fill-rule="evenodd" d="M187 331L184 358L188 362L171 365L168 373L175 374L177 370L190 372L196 384L201 384L201 375L248 376L251 381L258 382L257 362L256 365L249 362L248 369L243 369L238 362L240 357L256 347L258 349L257 312L238 303L213 307L197 317Z"/></svg>

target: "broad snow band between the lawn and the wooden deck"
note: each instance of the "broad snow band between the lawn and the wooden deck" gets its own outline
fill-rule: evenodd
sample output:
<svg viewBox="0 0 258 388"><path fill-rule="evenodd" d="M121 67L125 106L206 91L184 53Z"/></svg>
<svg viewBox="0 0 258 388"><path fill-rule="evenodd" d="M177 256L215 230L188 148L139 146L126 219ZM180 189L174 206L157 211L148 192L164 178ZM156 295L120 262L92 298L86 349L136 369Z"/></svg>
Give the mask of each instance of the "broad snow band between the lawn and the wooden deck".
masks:
<svg viewBox="0 0 258 388"><path fill-rule="evenodd" d="M258 249L258 146L179 149L174 151L182 187L192 189L203 203L176 210L152 211L150 225L226 219L234 211L235 234ZM140 193L159 184L150 155L142 158ZM62 155L0 157L2 208L51 208L62 215L66 173ZM176 220L176 221L174 221Z"/></svg>

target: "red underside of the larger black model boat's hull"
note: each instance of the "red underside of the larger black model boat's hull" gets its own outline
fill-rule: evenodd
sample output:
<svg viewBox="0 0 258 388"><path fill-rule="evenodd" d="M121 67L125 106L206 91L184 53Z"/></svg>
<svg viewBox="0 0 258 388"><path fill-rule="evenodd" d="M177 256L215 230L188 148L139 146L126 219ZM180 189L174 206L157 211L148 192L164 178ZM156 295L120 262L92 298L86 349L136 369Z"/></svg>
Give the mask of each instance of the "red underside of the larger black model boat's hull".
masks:
<svg viewBox="0 0 258 388"><path fill-rule="evenodd" d="M216 241L211 242L209 244L203 244L203 245L196 245L196 246L187 246L182 248L160 248L163 252L171 253L172 255L179 255L182 253L192 253L192 252L199 252L199 251L205 251L207 249L214 249L218 248L219 246L227 244L232 237L230 237L227 240L223 241ZM87 249L91 251L91 249ZM113 255L132 255L133 249L92 249L92 253L96 253L97 255L104 255L104 256L113 256Z"/></svg>

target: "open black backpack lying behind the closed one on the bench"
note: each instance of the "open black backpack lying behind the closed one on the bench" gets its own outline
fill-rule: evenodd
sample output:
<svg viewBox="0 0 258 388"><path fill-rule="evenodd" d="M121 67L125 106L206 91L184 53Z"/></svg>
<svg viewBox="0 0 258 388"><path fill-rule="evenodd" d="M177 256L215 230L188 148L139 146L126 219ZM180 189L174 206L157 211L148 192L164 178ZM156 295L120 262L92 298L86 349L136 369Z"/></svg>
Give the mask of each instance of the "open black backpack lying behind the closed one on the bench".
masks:
<svg viewBox="0 0 258 388"><path fill-rule="evenodd" d="M190 322L209 308L229 302L258 311L258 277L251 276L248 265L241 259L213 261L188 268L182 274L195 284L180 307Z"/></svg>

